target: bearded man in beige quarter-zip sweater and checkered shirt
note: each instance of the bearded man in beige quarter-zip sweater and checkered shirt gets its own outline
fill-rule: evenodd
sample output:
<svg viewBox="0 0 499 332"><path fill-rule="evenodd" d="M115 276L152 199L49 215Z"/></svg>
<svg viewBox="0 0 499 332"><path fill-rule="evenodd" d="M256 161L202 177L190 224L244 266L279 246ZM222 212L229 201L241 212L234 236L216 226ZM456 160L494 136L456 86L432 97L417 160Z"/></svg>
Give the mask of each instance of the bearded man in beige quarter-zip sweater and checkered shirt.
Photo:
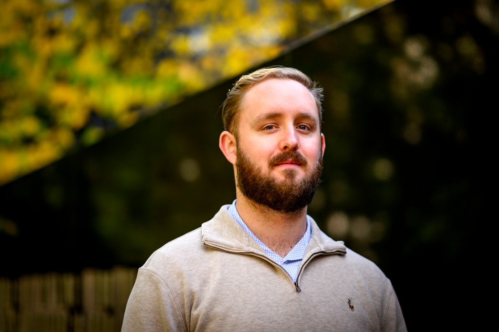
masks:
<svg viewBox="0 0 499 332"><path fill-rule="evenodd" d="M236 200L139 269L122 331L406 331L390 281L307 215L322 89L294 68L243 75L222 108Z"/></svg>

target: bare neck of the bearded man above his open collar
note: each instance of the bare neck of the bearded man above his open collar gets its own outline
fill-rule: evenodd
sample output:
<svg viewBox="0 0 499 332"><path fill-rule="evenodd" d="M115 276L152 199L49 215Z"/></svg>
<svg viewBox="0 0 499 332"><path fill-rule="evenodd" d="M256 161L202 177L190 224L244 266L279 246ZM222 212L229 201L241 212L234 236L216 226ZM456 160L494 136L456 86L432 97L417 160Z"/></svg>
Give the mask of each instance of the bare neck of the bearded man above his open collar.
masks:
<svg viewBox="0 0 499 332"><path fill-rule="evenodd" d="M307 228L307 208L286 213L237 195L236 208L253 234L270 250L285 257L300 241Z"/></svg>

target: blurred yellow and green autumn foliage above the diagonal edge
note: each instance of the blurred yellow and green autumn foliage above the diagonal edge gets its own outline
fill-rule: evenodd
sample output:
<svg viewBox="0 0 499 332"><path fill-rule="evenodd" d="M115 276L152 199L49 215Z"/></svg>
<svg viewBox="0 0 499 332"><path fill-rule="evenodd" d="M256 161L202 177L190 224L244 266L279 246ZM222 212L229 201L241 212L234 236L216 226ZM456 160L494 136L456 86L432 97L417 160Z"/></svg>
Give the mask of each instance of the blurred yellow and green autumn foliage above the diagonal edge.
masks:
<svg viewBox="0 0 499 332"><path fill-rule="evenodd" d="M3 0L0 185L381 0Z"/></svg>

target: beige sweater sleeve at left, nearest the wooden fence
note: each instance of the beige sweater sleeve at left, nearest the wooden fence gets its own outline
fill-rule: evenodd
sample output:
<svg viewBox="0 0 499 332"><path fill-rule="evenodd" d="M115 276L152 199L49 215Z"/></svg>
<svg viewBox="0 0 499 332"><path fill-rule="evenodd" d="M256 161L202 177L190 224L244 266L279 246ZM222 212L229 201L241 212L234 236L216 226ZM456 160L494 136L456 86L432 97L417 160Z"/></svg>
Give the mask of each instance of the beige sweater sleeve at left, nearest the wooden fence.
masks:
<svg viewBox="0 0 499 332"><path fill-rule="evenodd" d="M139 269L121 331L188 331L181 307L168 282L155 270Z"/></svg>

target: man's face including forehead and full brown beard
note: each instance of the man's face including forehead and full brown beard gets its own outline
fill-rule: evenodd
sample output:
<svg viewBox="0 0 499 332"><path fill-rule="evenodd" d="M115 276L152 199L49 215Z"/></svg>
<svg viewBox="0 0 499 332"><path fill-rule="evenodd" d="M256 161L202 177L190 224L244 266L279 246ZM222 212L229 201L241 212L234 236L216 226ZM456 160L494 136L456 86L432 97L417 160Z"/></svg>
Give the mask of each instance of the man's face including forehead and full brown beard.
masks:
<svg viewBox="0 0 499 332"><path fill-rule="evenodd" d="M324 136L310 92L268 79L245 95L238 119L237 185L250 200L294 212L312 201L322 171Z"/></svg>

